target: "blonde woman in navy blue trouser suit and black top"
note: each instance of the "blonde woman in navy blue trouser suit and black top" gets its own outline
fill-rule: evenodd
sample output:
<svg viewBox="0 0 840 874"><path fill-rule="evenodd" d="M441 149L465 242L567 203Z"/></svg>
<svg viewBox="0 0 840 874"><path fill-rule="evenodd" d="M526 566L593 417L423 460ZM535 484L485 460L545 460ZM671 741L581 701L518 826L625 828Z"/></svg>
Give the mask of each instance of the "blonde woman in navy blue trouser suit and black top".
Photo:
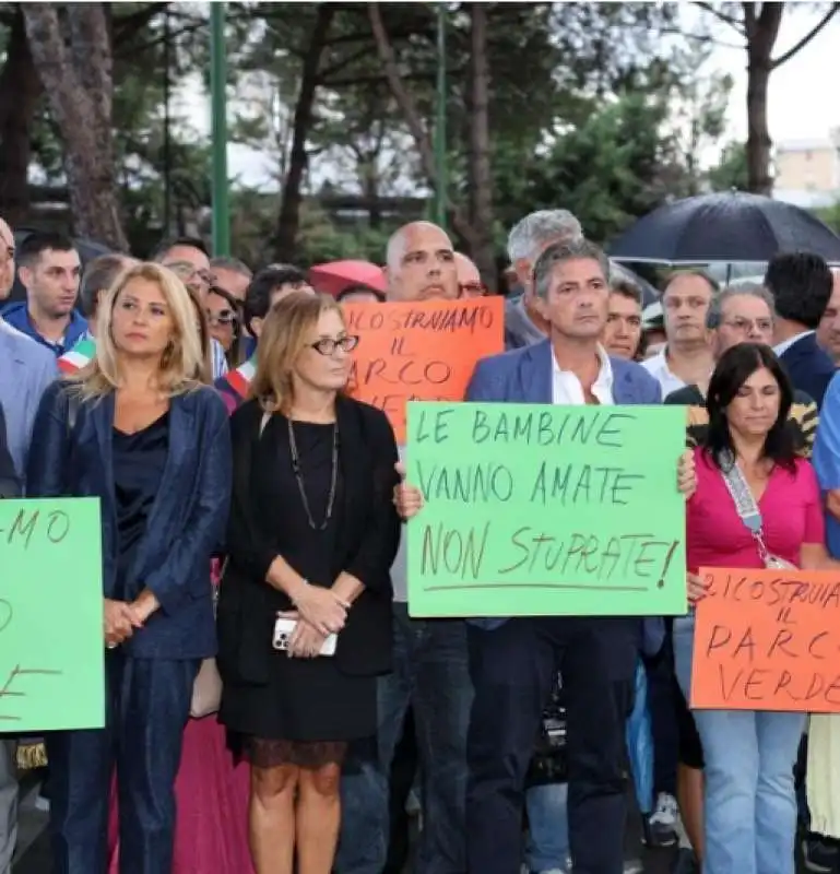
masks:
<svg viewBox="0 0 840 874"><path fill-rule="evenodd" d="M224 403L184 284L128 268L99 307L96 357L44 395L33 497L97 497L103 525L105 728L54 733L50 827L62 874L107 869L117 773L120 872L171 870L173 786L201 660L215 651L209 566L230 491Z"/></svg>

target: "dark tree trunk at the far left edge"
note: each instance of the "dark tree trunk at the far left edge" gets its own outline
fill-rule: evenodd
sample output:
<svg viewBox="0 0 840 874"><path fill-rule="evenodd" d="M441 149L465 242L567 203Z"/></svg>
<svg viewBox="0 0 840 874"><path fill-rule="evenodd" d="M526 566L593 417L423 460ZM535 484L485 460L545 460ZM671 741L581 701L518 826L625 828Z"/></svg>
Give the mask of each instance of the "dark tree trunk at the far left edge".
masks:
<svg viewBox="0 0 840 874"><path fill-rule="evenodd" d="M23 12L14 10L9 50L0 72L0 215L14 227L29 211L31 129L42 87Z"/></svg>

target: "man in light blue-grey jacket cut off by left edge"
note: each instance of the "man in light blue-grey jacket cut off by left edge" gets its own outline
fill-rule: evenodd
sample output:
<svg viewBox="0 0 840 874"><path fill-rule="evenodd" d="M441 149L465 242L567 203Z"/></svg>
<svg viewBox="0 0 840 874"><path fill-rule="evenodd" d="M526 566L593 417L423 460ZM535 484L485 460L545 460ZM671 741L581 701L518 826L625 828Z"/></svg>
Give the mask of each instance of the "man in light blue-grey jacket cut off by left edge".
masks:
<svg viewBox="0 0 840 874"><path fill-rule="evenodd" d="M14 282L14 236L0 218L0 302ZM3 450L23 485L32 425L44 389L58 374L56 357L0 318L0 408ZM0 735L0 874L9 874L17 838L16 741Z"/></svg>

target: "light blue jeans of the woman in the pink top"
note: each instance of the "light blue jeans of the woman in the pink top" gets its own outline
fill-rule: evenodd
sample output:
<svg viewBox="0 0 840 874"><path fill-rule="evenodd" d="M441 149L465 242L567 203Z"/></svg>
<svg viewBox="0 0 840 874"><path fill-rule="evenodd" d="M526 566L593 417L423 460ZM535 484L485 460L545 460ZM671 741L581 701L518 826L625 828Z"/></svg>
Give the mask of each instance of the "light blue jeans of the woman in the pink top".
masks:
<svg viewBox="0 0 840 874"><path fill-rule="evenodd" d="M689 696L694 617L674 623L674 660ZM706 759L703 874L794 874L793 766L804 713L694 710Z"/></svg>

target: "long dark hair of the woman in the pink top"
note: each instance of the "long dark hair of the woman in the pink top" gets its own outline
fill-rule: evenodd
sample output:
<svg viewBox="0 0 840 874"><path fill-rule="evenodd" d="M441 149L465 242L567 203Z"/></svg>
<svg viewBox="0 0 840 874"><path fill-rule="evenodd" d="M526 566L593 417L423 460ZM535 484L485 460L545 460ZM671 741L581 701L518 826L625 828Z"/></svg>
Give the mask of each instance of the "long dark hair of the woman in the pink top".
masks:
<svg viewBox="0 0 840 874"><path fill-rule="evenodd" d="M796 450L788 426L788 416L793 403L793 386L773 351L759 343L738 343L726 350L721 355L709 382L706 397L709 429L703 449L717 466L720 466L721 454L735 452L726 408L747 379L762 368L772 374L781 395L779 415L765 438L764 457L790 471L795 468Z"/></svg>

